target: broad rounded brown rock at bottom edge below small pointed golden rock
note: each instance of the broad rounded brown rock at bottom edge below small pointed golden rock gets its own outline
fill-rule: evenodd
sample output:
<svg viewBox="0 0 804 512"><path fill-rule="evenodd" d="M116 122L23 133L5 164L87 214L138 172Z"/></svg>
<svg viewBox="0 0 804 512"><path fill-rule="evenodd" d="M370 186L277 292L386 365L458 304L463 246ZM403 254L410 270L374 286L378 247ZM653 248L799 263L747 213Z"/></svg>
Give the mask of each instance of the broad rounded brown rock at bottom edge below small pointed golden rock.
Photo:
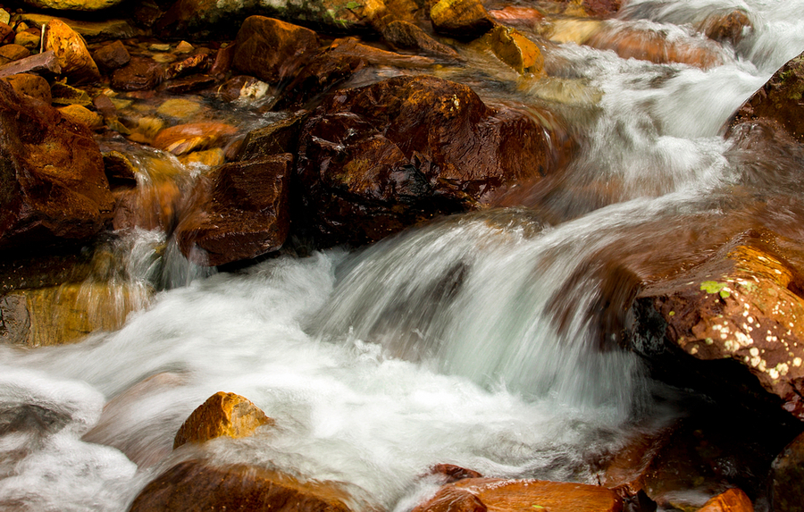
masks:
<svg viewBox="0 0 804 512"><path fill-rule="evenodd" d="M148 483L130 512L350 512L352 499L336 483L301 483L255 466L209 466L189 460Z"/></svg>

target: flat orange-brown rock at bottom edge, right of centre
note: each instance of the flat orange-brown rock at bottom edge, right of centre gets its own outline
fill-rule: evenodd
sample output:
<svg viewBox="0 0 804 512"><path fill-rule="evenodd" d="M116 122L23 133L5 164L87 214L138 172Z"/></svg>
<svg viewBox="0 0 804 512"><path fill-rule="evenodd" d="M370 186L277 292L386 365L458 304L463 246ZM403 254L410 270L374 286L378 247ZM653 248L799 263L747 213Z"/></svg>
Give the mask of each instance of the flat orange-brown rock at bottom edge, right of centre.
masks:
<svg viewBox="0 0 804 512"><path fill-rule="evenodd" d="M541 480L467 478L449 483L414 512L619 512L617 495L603 487Z"/></svg>

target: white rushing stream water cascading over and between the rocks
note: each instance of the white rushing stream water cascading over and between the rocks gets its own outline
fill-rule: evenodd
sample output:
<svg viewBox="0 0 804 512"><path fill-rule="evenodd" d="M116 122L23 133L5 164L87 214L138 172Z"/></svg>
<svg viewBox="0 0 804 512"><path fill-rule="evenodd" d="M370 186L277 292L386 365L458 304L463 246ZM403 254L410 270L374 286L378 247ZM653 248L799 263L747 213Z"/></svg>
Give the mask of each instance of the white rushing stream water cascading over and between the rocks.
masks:
<svg viewBox="0 0 804 512"><path fill-rule="evenodd" d="M804 49L804 2L641 0L613 22L695 39L689 23L734 7L755 29L708 71L550 48L548 64L582 84L582 151L518 191L532 208L237 273L188 264L162 231L132 231L117 250L128 280L163 290L150 306L80 344L0 347L0 508L127 508L193 455L172 453L173 436L219 390L276 425L209 443L215 460L339 481L357 505L413 507L439 463L594 482L596 460L683 414L611 338L635 283L757 225L800 236L801 155L721 131ZM549 80L515 92L474 80L491 100L549 96ZM773 200L783 211L754 207Z"/></svg>

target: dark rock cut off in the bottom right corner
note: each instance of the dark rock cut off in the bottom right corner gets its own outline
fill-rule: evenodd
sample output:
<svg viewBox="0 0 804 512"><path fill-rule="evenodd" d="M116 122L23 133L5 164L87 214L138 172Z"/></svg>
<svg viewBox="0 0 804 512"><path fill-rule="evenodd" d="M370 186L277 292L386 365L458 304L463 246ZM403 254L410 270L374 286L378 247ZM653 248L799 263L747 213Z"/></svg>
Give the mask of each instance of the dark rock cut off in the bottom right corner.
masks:
<svg viewBox="0 0 804 512"><path fill-rule="evenodd" d="M768 487L771 510L804 511L804 434L776 457Z"/></svg>

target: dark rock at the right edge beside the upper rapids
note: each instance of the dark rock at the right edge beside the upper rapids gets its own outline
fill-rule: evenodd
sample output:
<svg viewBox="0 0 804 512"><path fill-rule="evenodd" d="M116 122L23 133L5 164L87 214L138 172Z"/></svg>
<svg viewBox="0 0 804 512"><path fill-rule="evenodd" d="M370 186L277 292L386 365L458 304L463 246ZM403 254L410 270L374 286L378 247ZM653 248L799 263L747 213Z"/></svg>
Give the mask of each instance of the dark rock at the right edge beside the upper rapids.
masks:
<svg viewBox="0 0 804 512"><path fill-rule="evenodd" d="M730 123L761 120L776 124L799 142L804 142L804 54L785 63L766 84L745 102Z"/></svg>

